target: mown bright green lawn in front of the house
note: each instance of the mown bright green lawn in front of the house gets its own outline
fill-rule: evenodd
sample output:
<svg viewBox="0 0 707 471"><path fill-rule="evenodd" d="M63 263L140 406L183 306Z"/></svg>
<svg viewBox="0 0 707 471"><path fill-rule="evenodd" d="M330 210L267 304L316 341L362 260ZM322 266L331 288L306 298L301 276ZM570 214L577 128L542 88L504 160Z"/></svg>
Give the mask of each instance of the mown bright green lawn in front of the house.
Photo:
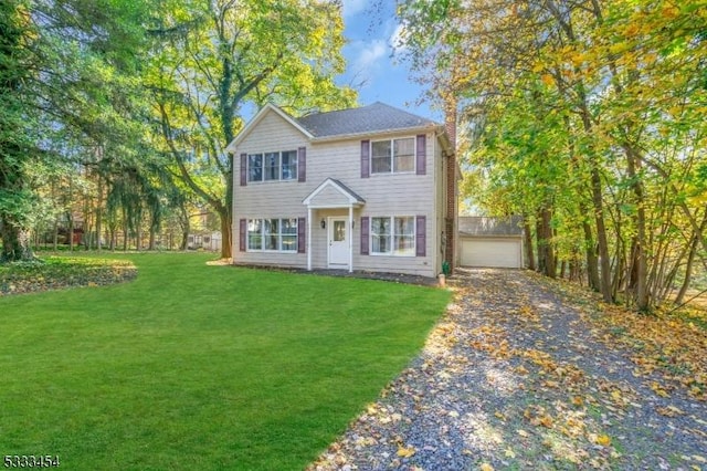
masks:
<svg viewBox="0 0 707 471"><path fill-rule="evenodd" d="M207 266L208 254L116 257L135 281L0 297L3 454L72 470L303 469L450 299Z"/></svg>

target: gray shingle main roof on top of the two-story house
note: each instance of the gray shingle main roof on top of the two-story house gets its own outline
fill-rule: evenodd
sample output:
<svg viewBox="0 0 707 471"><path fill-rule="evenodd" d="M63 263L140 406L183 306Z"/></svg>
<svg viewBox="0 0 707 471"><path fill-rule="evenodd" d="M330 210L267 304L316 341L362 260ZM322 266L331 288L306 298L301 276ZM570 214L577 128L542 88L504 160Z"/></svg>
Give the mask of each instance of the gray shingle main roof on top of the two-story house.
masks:
<svg viewBox="0 0 707 471"><path fill-rule="evenodd" d="M312 114L296 121L315 137L379 133L437 125L431 119L380 102L360 108Z"/></svg>

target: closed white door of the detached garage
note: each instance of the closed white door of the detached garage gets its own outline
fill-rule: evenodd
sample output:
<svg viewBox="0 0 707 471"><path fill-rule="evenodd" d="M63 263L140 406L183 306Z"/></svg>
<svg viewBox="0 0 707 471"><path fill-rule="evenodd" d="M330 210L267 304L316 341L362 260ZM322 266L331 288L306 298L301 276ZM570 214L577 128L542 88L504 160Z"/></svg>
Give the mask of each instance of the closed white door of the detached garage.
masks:
<svg viewBox="0 0 707 471"><path fill-rule="evenodd" d="M461 259L463 266L523 266L521 247L517 239L462 239Z"/></svg>

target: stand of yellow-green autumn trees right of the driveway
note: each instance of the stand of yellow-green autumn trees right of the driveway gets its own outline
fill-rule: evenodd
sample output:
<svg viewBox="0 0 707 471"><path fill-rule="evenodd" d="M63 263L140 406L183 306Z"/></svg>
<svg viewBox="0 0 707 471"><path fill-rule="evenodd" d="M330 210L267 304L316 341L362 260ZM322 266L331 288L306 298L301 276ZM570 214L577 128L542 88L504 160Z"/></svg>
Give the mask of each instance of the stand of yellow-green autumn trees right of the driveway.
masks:
<svg viewBox="0 0 707 471"><path fill-rule="evenodd" d="M462 106L465 168L484 182L466 196L536 221L546 274L569 265L606 302L643 311L689 284L707 258L705 0L415 0L399 12L421 76Z"/></svg>

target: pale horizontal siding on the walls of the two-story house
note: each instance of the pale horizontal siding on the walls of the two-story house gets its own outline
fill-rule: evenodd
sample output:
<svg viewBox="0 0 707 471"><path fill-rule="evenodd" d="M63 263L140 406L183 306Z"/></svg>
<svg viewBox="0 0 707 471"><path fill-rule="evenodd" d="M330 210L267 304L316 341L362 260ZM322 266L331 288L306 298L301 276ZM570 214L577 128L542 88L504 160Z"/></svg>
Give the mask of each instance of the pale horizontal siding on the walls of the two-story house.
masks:
<svg viewBox="0 0 707 471"><path fill-rule="evenodd" d="M419 134L423 133L424 130L421 130ZM376 135L374 139L387 137L414 137L414 134ZM303 200L327 178L334 178L366 200L361 208L354 210L355 227L351 237L355 270L436 275L441 266L440 231L443 227L441 208L444 205L444 187L441 171L443 164L435 134L429 130L426 134L425 175L412 172L371 175L369 178L361 178L360 143L361 138L310 143L306 136L276 113L271 112L265 115L242 139L235 151L235 158L240 158L242 153L292 150L306 146L307 179L305 182L265 181L240 186L240 177L234 175L234 262L306 268L306 253L239 251L239 221L251 218L306 218L307 207L303 205ZM344 202L344 198L337 191L326 189L317 196L317 205L327 198ZM330 216L348 217L348 208L313 210L310 241L313 268L327 266L328 230L320 228L320 220ZM361 255L361 216L425 216L426 257Z"/></svg>

